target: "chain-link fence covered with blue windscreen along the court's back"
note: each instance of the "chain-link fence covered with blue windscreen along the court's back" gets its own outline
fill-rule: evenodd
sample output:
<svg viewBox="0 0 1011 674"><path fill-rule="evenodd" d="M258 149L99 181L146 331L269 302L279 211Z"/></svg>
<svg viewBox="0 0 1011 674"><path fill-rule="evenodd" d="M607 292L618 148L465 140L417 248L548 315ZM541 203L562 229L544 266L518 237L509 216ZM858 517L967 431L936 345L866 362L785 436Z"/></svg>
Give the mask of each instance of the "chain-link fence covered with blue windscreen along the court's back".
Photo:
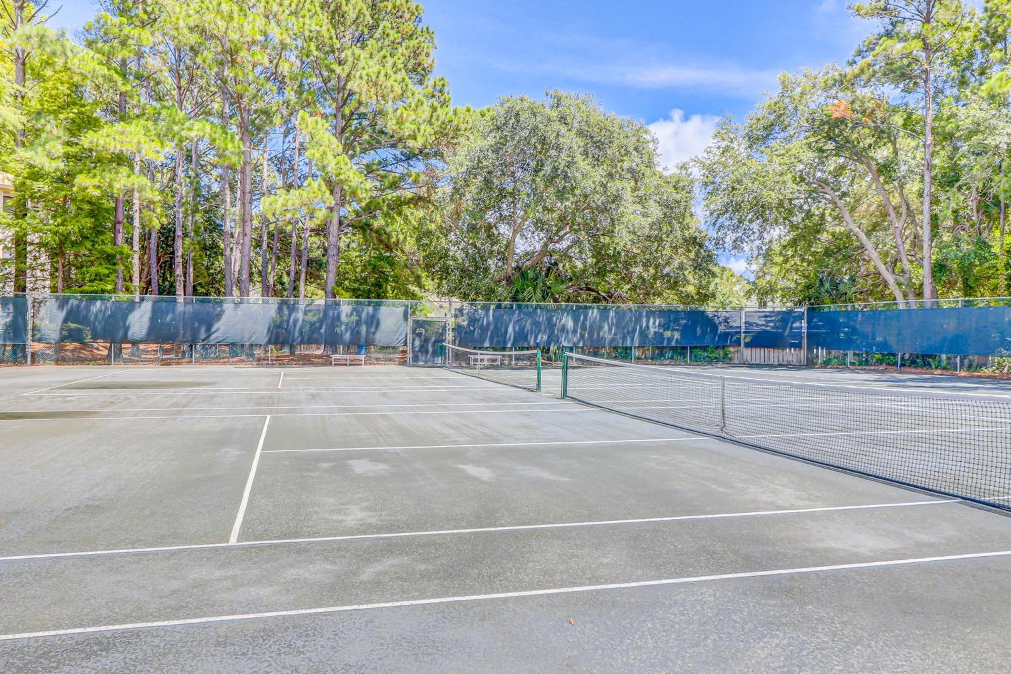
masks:
<svg viewBox="0 0 1011 674"><path fill-rule="evenodd" d="M669 363L1011 369L1007 298L756 309L14 294L0 297L0 364L406 362L411 326L425 320L445 321L458 346L539 348L546 366L577 349Z"/></svg>

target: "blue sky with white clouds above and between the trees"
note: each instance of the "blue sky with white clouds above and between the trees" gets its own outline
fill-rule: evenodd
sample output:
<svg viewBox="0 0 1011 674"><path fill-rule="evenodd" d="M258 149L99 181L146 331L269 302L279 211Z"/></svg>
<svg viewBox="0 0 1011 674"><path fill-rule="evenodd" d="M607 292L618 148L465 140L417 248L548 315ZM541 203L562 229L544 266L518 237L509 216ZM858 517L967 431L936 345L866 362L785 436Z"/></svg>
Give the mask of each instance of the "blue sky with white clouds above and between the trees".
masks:
<svg viewBox="0 0 1011 674"><path fill-rule="evenodd" d="M591 93L649 124L668 165L701 152L722 115L747 113L779 72L844 61L872 29L846 0L422 3L436 70L457 104L549 88ZM88 0L64 0L53 24L74 30L93 13Z"/></svg>

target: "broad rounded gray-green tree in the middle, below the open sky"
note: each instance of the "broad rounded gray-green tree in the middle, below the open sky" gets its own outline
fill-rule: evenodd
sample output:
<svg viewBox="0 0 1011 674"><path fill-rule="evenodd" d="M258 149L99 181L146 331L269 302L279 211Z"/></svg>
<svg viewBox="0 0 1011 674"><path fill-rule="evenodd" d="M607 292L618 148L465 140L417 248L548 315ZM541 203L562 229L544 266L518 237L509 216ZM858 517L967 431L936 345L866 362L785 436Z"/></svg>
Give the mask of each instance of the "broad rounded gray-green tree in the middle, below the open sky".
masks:
<svg viewBox="0 0 1011 674"><path fill-rule="evenodd" d="M715 256L686 173L657 168L640 123L588 96L503 98L449 158L427 264L443 292L705 302Z"/></svg>

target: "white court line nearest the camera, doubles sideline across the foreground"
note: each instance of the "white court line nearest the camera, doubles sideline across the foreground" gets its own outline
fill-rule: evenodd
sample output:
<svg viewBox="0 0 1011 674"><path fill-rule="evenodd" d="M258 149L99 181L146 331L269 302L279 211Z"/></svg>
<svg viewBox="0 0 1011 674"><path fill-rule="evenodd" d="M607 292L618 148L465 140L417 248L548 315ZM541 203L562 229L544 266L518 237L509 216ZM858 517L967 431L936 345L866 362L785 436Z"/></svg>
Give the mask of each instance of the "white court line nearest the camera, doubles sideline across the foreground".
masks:
<svg viewBox="0 0 1011 674"><path fill-rule="evenodd" d="M686 576L680 578L664 578L661 580L632 581L628 583L605 583L601 585L577 585L573 587L545 588L539 590L518 590L515 592L491 592L487 594L467 594L452 597L432 597L428 599L407 599L403 601L384 601L371 604L347 604L343 606L321 606L318 608L296 608L280 611L264 611L260 613L237 613L233 615L208 615L205 617L180 618L176 620L152 620L150 622L124 622L120 624L103 624L91 627L71 627L68 629L50 629L47 631L25 631L14 635L0 635L0 641L16 639L35 639L40 637L60 637L65 635L94 634L100 631L116 631L122 629L141 629L145 627L174 627L188 624L206 624L208 622L234 622L258 618L288 617L295 615L318 615L326 613L344 613L349 611L371 610L378 608L400 608L405 606L427 606L431 604L449 604L466 601L487 601L492 599L515 599L520 597L540 597L552 594L574 594L577 592L598 592L604 590L619 590L638 587L657 587L661 585L683 585L686 583L704 583L723 580L740 580L745 578L767 578L770 576L796 576L799 574L814 574L827 571L852 571L856 569L881 569L886 567L911 566L932 562L954 562L961 560L981 560L995 557L1011 556L1011 550L991 553L970 553L966 555L940 555L937 557L919 557L905 560L885 560L881 562L858 562L854 564L831 564L821 567L800 567L796 569L769 569L767 571L744 571L729 574L712 574L708 576Z"/></svg>

